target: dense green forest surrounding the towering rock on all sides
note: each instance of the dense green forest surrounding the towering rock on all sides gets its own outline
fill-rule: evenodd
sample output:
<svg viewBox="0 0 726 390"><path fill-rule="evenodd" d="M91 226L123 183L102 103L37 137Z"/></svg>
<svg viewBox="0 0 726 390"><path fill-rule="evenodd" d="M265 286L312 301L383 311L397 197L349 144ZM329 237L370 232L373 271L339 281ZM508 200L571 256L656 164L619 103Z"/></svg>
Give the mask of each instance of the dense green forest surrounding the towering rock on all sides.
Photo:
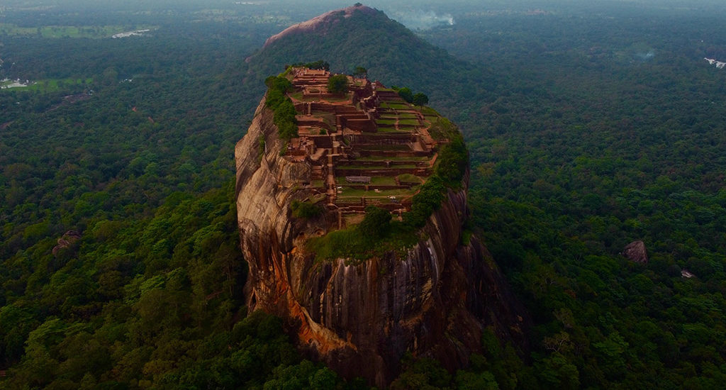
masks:
<svg viewBox="0 0 726 390"><path fill-rule="evenodd" d="M534 322L526 354L485 330L467 370L404 357L393 388L725 381L726 68L704 60L726 62L722 2L372 3L452 23L362 23L394 34L306 58L260 48L350 4L147 3L0 6L0 86L28 81L0 89L0 386L364 387L242 301L234 142L264 77L321 58L459 124L468 228ZM619 254L634 240L648 264Z"/></svg>

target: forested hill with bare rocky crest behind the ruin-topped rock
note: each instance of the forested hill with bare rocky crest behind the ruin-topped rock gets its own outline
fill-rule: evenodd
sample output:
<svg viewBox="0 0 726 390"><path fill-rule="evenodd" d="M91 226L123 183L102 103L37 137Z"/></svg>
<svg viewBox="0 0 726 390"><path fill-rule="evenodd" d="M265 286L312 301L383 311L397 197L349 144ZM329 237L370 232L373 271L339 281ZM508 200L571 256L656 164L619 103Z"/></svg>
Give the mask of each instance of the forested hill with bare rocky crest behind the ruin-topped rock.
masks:
<svg viewBox="0 0 726 390"><path fill-rule="evenodd" d="M447 107L481 98L495 84L481 68L455 59L382 11L362 5L327 12L270 37L248 57L247 80L279 73L286 64L321 59L330 62L334 72L352 73L362 66L372 80L423 92L431 97L431 106L446 115L452 114Z"/></svg>

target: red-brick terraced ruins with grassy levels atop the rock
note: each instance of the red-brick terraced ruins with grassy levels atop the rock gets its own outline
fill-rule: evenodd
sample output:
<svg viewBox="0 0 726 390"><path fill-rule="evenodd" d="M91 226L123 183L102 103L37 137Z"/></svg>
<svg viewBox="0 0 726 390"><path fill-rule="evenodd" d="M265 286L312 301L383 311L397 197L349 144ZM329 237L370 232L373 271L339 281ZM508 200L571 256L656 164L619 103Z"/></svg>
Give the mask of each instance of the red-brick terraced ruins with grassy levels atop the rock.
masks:
<svg viewBox="0 0 726 390"><path fill-rule="evenodd" d="M311 166L309 200L325 205L338 229L360 222L370 205L409 211L447 141L429 132L439 115L367 78L348 76L348 92L333 94L326 70L293 68L290 76L298 137L285 158Z"/></svg>

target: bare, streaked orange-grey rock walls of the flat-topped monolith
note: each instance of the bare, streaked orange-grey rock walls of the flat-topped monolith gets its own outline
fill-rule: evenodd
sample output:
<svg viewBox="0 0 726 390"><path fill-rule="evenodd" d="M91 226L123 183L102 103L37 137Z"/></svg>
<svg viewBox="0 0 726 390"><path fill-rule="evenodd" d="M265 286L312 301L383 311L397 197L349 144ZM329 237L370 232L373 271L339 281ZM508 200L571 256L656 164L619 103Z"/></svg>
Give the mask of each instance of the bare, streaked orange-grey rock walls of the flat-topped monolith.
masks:
<svg viewBox="0 0 726 390"><path fill-rule="evenodd" d="M290 203L309 195L304 183L311 167L280 156L284 144L264 102L235 148L250 312L287 319L311 357L378 386L396 377L407 351L435 357L450 370L466 365L486 326L523 345L519 306L486 248L476 237L462 244L465 190L449 190L423 228L426 239L406 253L357 265L314 261L303 244L328 232L330 222L292 216Z"/></svg>

